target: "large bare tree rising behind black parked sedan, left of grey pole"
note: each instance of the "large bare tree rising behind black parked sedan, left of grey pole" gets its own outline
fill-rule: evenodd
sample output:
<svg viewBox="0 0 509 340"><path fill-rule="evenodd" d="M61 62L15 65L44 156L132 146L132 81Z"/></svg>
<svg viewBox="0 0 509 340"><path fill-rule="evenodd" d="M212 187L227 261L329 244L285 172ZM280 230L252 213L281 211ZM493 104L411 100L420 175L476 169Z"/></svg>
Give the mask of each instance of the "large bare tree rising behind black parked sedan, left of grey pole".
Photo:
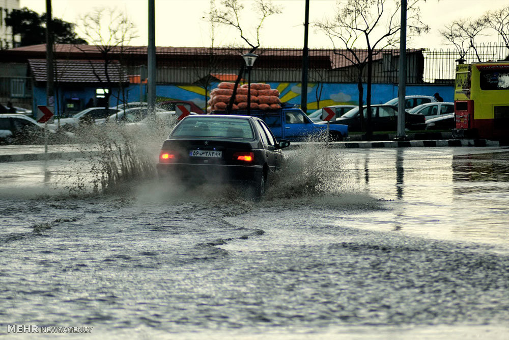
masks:
<svg viewBox="0 0 509 340"><path fill-rule="evenodd" d="M408 35L418 35L429 31L429 27L420 20L418 4L421 0L407 1ZM426 1L426 0L422 0ZM344 5L342 5L344 4ZM357 68L359 89L359 115L363 125L363 85L362 74L367 72L366 111L371 112L371 82L373 57L387 46L395 46L399 41L397 33L401 30L399 21L400 1L392 0L347 0L338 2L332 20L325 19L315 25L330 38L334 53L343 56ZM336 42L342 49L336 48ZM358 49L363 44L365 49ZM373 131L371 114L367 114L366 137L371 139Z"/></svg>

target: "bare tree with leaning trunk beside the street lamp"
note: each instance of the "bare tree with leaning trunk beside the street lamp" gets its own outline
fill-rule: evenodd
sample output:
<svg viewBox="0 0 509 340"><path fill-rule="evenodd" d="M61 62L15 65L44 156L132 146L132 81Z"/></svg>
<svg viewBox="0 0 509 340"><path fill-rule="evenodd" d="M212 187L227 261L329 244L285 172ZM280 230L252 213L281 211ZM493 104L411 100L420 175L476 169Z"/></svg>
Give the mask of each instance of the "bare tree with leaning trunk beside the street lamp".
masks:
<svg viewBox="0 0 509 340"><path fill-rule="evenodd" d="M240 4L239 0L221 0L221 6L219 8L214 8L210 16L210 20L211 22L234 27L240 33L240 38L249 45L249 53L253 53L258 47L260 47L260 30L263 27L264 20L271 15L281 13L281 10L279 7L274 6L270 0L256 0L254 2L254 8L252 9L252 12L249 13L250 15L248 18L252 17L252 13L254 13L258 16L258 23L254 33L250 36L246 33L241 24L241 22L251 22L249 19L241 19L243 10L244 6ZM230 98L230 102L228 103L227 111L232 110L235 95L237 93L237 86L239 85L242 74L244 73L244 68L245 65L242 64L239 74L237 75L237 80L235 81L234 92Z"/></svg>

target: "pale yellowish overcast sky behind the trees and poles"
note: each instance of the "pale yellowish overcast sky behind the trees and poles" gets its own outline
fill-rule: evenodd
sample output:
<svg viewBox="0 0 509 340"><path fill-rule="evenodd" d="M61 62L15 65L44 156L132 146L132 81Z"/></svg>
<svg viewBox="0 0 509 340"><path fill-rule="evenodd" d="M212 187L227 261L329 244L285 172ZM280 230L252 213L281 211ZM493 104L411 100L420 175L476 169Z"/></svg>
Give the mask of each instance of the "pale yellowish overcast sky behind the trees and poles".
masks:
<svg viewBox="0 0 509 340"><path fill-rule="evenodd" d="M220 0L216 0L219 3ZM398 0L399 1L399 0ZM296 47L303 45L304 0L273 0L282 8L283 13L270 17L264 24L261 43L265 47ZM210 46L210 23L202 17L209 10L209 0L155 0L156 9L156 45L157 46ZM245 8L252 2L243 1ZM408 43L411 48L452 48L446 46L438 30L451 20L459 18L477 18L491 9L508 4L507 0L427 0L422 2L421 18L431 27L429 34L416 37ZM139 38L132 45L147 45L147 0L52 0L53 16L69 22L76 22L80 14L88 13L95 7L117 7L125 11L138 29ZM46 11L44 0L20 0L21 7L36 12ZM310 0L309 21L321 20L332 15L336 8L335 0ZM245 20L249 15L245 13ZM253 19L253 23L257 23ZM79 34L79 29L76 30ZM496 35L482 37L487 42L496 42ZM215 34L215 46L231 45L239 42L238 33L233 29L220 28ZM332 47L323 33L315 32L309 26L310 48Z"/></svg>

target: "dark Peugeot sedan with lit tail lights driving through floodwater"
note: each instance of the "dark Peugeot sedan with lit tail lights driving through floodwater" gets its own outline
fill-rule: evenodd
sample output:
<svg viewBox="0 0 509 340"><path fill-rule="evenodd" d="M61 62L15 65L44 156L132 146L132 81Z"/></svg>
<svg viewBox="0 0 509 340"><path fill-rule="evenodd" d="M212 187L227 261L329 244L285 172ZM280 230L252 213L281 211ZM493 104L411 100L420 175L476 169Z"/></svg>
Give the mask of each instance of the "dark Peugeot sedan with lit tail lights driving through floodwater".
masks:
<svg viewBox="0 0 509 340"><path fill-rule="evenodd" d="M280 168L281 149L265 122L257 117L194 115L180 121L162 145L157 170L160 176L204 182L247 183L255 199L267 177Z"/></svg>

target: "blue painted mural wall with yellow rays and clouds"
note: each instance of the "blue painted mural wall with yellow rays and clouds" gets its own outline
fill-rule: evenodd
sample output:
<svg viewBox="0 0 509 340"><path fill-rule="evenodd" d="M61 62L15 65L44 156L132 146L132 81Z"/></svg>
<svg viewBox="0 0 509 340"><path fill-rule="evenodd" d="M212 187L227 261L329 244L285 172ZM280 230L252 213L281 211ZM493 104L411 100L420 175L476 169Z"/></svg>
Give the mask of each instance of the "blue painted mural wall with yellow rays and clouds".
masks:
<svg viewBox="0 0 509 340"><path fill-rule="evenodd" d="M272 89L277 89L280 93L279 98L282 102L291 104L300 104L301 85L300 83L269 83ZM212 84L210 89L217 87L218 83ZM317 98L317 91L321 95ZM454 88L447 85L408 85L407 95L433 95L436 92L440 94L444 101L454 101ZM143 92L145 95L145 91ZM197 106L205 109L205 89L194 85L158 85L156 89L158 100L177 99L190 100ZM373 104L384 103L398 96L398 85L394 84L373 84L372 99ZM307 109L312 112L320 107L339 105L339 104L358 104L359 92L357 84L315 84L310 83L307 88ZM364 84L363 100L366 100L366 85ZM139 85L129 87L129 100L139 101Z"/></svg>

